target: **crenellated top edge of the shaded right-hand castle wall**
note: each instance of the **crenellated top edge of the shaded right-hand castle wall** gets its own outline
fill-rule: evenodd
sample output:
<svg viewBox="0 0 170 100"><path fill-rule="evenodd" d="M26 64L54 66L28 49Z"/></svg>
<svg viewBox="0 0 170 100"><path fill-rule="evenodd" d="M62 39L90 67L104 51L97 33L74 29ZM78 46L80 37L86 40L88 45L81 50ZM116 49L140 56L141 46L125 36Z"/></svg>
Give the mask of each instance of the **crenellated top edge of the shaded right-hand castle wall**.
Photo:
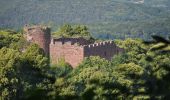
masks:
<svg viewBox="0 0 170 100"><path fill-rule="evenodd" d="M114 41L104 41L99 43L93 43L89 45L85 45L85 48L94 48L94 47L102 47L102 46L108 46L108 45L114 45Z"/></svg>

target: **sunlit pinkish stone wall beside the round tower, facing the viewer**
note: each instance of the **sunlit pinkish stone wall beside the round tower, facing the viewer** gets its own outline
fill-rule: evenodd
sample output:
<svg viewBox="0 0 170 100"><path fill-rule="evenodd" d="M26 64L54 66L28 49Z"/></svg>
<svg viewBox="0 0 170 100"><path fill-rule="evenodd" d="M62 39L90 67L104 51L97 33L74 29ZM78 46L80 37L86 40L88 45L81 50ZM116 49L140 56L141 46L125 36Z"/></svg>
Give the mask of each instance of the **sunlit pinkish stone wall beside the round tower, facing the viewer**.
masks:
<svg viewBox="0 0 170 100"><path fill-rule="evenodd" d="M50 44L51 63L56 64L60 59L76 67L84 58L83 47L71 42L51 42Z"/></svg>

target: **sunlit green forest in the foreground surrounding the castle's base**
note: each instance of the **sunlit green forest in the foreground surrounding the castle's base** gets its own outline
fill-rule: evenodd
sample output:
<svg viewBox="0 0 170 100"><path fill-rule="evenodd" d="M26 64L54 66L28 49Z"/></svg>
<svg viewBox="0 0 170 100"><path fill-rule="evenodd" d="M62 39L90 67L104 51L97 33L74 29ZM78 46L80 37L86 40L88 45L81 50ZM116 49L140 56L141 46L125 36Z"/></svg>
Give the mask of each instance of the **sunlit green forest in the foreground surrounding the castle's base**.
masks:
<svg viewBox="0 0 170 100"><path fill-rule="evenodd" d="M115 43L125 52L111 61L91 56L73 69L63 59L51 65L22 31L0 30L0 100L168 99L170 38Z"/></svg>

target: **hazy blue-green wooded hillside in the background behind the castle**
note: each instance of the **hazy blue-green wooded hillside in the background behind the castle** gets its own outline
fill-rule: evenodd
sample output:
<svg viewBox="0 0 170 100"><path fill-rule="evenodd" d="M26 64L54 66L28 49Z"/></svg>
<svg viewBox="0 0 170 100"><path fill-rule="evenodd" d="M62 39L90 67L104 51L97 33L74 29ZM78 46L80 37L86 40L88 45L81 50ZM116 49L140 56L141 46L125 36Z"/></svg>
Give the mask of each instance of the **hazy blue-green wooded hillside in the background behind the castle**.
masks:
<svg viewBox="0 0 170 100"><path fill-rule="evenodd" d="M0 0L0 28L85 24L100 38L170 34L169 0ZM146 34L147 33L147 34Z"/></svg>

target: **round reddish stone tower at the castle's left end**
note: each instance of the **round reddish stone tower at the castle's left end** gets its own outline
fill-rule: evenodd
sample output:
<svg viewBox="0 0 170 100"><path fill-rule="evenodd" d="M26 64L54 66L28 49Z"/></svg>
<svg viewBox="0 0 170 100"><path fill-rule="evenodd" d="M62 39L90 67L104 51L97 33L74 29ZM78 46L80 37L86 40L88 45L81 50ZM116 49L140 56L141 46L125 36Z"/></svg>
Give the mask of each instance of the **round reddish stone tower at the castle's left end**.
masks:
<svg viewBox="0 0 170 100"><path fill-rule="evenodd" d="M24 33L27 41L36 43L49 56L49 44L51 41L50 28L44 26L25 26Z"/></svg>

